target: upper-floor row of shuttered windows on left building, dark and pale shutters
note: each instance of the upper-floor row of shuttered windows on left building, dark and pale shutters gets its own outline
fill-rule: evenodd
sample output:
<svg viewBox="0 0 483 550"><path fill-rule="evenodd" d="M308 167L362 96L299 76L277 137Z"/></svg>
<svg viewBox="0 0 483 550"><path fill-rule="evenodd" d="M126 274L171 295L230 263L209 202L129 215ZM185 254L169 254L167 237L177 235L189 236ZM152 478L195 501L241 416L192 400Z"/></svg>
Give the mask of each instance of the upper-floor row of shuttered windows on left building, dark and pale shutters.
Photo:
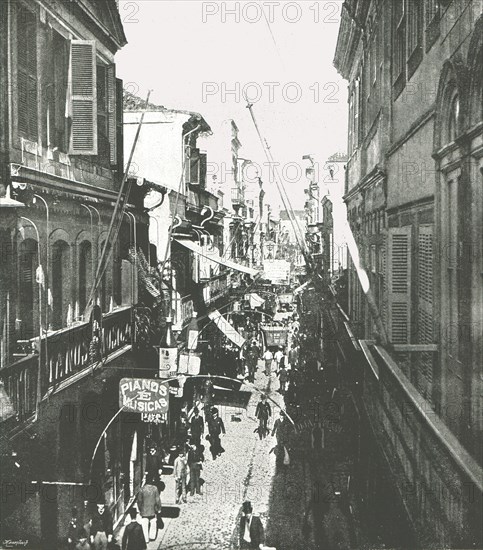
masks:
<svg viewBox="0 0 483 550"><path fill-rule="evenodd" d="M17 130L20 137L31 141L39 140L39 81L38 70L38 44L50 47L52 63L56 63L57 52L54 49L55 41L43 41L39 38L41 29L37 21L37 15L28 9L23 3L16 4L16 57L17 57L17 78L16 78L16 100L17 100ZM49 44L49 46L47 46ZM48 140L63 149L63 138L57 136L62 132L58 127L70 127L68 137L68 152L72 155L98 155L98 90L97 90L97 56L96 43L94 40L71 40L68 50L69 57L69 78L68 82L59 75L55 75L55 93L50 96L59 98L67 97L67 105L64 103L64 111L61 112L57 105L52 103L52 97L46 93L46 101L50 101L48 107L50 118L44 121L49 125L50 138L44 132L43 141ZM66 52L67 53L67 52ZM50 55L50 54L49 54ZM46 66L47 67L47 66ZM118 92L115 66L102 66L106 75L105 78L105 105L102 113L105 121L104 148L105 156L111 165L118 164ZM47 70L47 68L45 68ZM52 78L50 79L52 80ZM65 94L61 88L65 87ZM50 100L49 100L50 97ZM45 106L47 109L47 106ZM56 120L54 121L54 117ZM57 118L59 121L57 121ZM69 120L69 125L62 124L63 120ZM66 140L67 141L67 140ZM49 143L50 144L50 143ZM66 144L67 145L67 144Z"/></svg>

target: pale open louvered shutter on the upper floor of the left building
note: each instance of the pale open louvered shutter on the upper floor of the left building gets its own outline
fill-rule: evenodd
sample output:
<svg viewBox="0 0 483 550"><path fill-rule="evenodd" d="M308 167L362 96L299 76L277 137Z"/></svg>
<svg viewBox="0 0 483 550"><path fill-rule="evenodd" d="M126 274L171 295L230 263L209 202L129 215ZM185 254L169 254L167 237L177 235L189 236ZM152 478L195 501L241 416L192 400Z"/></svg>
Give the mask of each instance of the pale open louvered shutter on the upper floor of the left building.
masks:
<svg viewBox="0 0 483 550"><path fill-rule="evenodd" d="M71 155L97 155L96 43L71 42Z"/></svg>

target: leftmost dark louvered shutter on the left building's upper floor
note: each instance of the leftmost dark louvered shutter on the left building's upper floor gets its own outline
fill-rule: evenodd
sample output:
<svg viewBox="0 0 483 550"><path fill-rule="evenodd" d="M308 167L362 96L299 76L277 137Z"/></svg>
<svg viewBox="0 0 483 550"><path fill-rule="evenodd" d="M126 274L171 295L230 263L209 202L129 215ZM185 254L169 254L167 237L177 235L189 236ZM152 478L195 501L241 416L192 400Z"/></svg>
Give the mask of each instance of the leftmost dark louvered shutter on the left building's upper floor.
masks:
<svg viewBox="0 0 483 550"><path fill-rule="evenodd" d="M17 128L27 139L38 138L37 20L17 7Z"/></svg>

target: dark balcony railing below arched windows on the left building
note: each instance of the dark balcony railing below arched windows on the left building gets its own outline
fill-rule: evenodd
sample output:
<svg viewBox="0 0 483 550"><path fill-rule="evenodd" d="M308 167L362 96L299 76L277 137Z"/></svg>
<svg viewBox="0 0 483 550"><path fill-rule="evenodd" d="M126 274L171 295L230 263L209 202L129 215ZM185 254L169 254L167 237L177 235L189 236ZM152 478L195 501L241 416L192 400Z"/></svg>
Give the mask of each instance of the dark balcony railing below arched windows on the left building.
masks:
<svg viewBox="0 0 483 550"><path fill-rule="evenodd" d="M39 398L88 367L102 365L110 355L132 343L132 308L125 307L103 317L102 331L93 337L90 323L79 323L42 339L40 354L29 354L0 371L5 390L25 421L36 410ZM35 345L35 339L32 341ZM38 343L37 343L38 345Z"/></svg>

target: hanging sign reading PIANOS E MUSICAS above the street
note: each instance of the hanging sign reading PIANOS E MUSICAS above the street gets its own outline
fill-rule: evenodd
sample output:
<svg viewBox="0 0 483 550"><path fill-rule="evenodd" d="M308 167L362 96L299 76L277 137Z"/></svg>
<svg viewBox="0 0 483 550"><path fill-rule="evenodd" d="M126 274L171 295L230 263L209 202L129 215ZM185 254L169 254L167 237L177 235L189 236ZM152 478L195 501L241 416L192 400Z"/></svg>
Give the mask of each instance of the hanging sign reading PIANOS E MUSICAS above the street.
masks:
<svg viewBox="0 0 483 550"><path fill-rule="evenodd" d="M129 412L165 414L169 408L168 384L149 378L123 378L119 382L119 406Z"/></svg>

